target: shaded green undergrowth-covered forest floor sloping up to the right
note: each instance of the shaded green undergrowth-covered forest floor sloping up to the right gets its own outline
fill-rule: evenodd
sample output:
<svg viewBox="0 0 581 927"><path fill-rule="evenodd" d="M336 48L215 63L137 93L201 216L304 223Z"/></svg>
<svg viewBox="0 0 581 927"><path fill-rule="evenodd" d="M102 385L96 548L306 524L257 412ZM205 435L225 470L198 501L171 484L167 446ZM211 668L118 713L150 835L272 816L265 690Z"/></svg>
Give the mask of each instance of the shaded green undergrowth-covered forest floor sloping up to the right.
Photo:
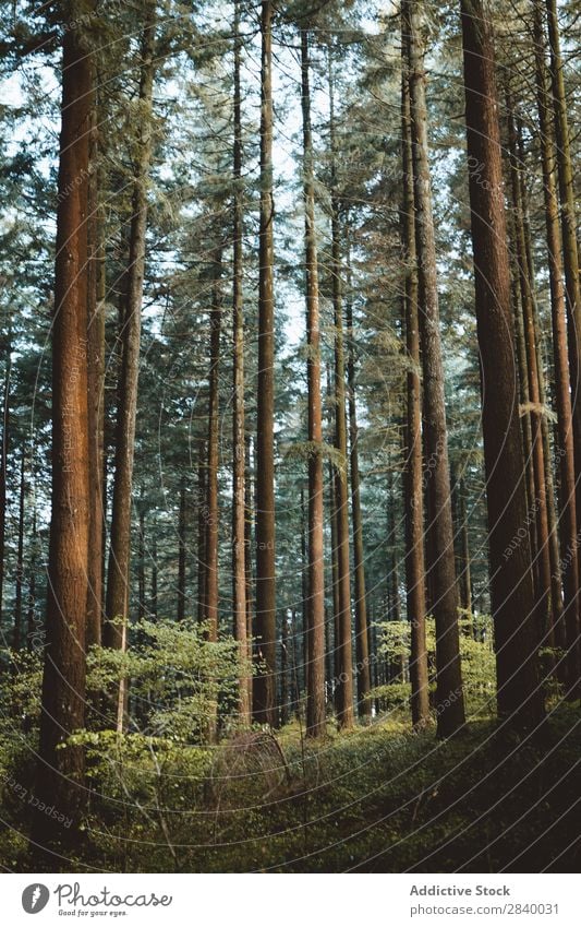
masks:
<svg viewBox="0 0 581 927"><path fill-rule="evenodd" d="M95 799L63 871L579 871L580 721L561 706L523 740L482 721L437 741L390 716L316 746L294 722L181 748L155 799L143 768L122 811ZM22 869L24 841L0 854Z"/></svg>

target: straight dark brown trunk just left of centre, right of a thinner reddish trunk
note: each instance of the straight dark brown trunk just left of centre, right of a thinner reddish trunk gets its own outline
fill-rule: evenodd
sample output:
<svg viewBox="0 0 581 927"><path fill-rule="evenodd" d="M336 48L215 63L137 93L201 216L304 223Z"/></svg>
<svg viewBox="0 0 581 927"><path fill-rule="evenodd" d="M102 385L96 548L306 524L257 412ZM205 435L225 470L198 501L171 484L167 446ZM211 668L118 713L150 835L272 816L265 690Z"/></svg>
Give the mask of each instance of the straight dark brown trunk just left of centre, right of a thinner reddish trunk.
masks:
<svg viewBox="0 0 581 927"><path fill-rule="evenodd" d="M256 635L263 672L254 718L276 726L275 313L273 242L273 8L262 2L258 407L256 436Z"/></svg>

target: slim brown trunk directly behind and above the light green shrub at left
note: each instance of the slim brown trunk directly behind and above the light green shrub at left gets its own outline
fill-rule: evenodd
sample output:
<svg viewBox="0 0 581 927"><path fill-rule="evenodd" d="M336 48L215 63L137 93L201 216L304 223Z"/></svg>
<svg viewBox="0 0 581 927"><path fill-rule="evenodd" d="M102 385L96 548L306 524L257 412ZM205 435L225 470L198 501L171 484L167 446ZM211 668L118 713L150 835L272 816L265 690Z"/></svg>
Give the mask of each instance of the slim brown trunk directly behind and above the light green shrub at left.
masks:
<svg viewBox="0 0 581 927"><path fill-rule="evenodd" d="M209 405L208 405L208 463L206 470L206 599L204 620L207 623L209 641L218 640L218 466L219 466L219 370L220 336L222 326L222 305L220 277L222 252L219 248L214 254L211 268L211 309L210 309L210 359L209 359Z"/></svg>

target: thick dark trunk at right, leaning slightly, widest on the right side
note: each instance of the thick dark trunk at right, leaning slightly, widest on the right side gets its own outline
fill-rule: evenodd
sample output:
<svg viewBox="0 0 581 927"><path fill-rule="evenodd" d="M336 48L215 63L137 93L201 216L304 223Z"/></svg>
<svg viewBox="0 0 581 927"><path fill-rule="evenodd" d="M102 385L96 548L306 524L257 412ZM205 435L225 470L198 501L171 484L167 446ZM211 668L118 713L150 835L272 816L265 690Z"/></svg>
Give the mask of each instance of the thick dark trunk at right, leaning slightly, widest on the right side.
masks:
<svg viewBox="0 0 581 927"><path fill-rule="evenodd" d="M525 727L537 722L543 706L528 537L507 556L513 538L526 524L526 494L515 377L494 44L481 0L461 0L461 21L497 705L501 717Z"/></svg>

